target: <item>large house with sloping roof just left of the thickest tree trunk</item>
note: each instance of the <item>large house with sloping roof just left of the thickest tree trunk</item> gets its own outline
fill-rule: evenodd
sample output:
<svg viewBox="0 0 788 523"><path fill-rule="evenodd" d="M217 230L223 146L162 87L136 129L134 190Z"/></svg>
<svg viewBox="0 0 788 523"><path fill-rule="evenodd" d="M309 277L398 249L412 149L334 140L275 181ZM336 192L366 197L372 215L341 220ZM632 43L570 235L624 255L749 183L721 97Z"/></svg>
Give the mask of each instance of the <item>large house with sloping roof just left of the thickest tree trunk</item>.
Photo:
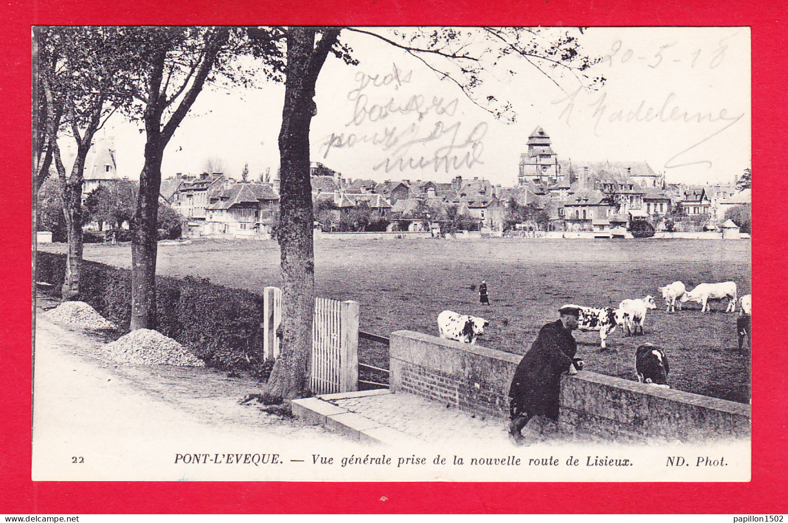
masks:
<svg viewBox="0 0 788 523"><path fill-rule="evenodd" d="M203 234L269 234L279 209L279 195L266 183L236 183L208 195Z"/></svg>

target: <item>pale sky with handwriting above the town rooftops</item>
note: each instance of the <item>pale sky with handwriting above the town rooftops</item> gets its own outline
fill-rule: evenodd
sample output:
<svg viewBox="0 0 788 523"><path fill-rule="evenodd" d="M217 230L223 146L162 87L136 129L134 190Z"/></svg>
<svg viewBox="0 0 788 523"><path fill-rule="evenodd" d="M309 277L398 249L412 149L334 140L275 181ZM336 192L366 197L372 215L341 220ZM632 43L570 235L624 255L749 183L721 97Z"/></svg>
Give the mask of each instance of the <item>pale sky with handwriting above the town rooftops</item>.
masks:
<svg viewBox="0 0 788 523"><path fill-rule="evenodd" d="M596 90L521 57L485 65L485 94L516 113L507 122L418 58L345 30L340 41L359 65L326 60L310 158L351 179L462 176L512 186L541 126L559 160L645 161L668 182L730 183L750 166L749 28L587 28L578 39L602 58L591 72L606 78ZM282 84L262 81L206 88L165 149L162 177L199 174L209 158L236 179L245 164L251 179L275 173L283 99ZM142 125L113 115L99 135L113 141L118 174L138 178Z"/></svg>

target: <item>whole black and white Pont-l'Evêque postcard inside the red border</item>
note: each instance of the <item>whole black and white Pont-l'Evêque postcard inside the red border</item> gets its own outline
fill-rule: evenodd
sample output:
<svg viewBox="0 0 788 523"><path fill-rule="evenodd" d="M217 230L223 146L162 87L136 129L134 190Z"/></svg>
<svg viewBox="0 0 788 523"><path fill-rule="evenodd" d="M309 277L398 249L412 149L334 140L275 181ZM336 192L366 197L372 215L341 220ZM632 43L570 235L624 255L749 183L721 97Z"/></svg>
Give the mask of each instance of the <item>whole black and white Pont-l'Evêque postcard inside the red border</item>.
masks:
<svg viewBox="0 0 788 523"><path fill-rule="evenodd" d="M34 27L32 479L749 481L750 39Z"/></svg>

